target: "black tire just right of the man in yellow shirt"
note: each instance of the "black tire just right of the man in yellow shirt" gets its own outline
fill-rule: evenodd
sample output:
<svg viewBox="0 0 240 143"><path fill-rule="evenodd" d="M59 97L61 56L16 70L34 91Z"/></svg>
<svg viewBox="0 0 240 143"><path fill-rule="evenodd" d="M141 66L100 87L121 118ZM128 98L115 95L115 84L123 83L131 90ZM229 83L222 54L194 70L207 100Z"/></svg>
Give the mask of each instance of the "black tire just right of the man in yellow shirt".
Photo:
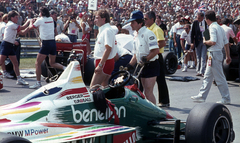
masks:
<svg viewBox="0 0 240 143"><path fill-rule="evenodd" d="M165 67L165 74L174 74L177 71L178 60L173 52L162 53Z"/></svg>

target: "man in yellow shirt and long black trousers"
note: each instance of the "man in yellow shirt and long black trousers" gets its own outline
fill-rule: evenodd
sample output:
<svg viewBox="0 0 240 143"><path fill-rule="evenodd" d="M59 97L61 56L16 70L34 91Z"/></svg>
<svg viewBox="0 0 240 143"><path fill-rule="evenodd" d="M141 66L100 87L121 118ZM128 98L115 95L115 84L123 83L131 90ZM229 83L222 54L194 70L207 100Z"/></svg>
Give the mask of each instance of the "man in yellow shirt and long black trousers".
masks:
<svg viewBox="0 0 240 143"><path fill-rule="evenodd" d="M155 12L149 11L144 14L145 25L149 30L151 30L157 37L159 53L158 53L158 61L160 65L159 76L157 76L157 84L158 84L158 95L159 95L159 104L162 107L168 107L169 104L169 94L168 87L165 80L165 72L164 72L164 62L162 53L164 52L164 46L166 45L164 39L163 30L158 27L155 23Z"/></svg>

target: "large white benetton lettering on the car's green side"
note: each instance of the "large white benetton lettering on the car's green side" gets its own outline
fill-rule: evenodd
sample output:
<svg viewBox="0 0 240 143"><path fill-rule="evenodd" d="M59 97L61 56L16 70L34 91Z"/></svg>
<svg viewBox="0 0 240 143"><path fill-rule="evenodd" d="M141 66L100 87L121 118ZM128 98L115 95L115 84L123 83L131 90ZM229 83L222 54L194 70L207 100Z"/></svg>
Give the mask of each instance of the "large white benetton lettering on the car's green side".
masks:
<svg viewBox="0 0 240 143"><path fill-rule="evenodd" d="M105 115L97 109L84 109L80 111L76 110L73 105L71 105L71 108L75 123L103 121L107 120L112 114L109 108L106 110ZM126 117L126 108L124 106L120 106L119 108L115 107L115 110L119 118L121 118L121 115L123 116L122 118Z"/></svg>

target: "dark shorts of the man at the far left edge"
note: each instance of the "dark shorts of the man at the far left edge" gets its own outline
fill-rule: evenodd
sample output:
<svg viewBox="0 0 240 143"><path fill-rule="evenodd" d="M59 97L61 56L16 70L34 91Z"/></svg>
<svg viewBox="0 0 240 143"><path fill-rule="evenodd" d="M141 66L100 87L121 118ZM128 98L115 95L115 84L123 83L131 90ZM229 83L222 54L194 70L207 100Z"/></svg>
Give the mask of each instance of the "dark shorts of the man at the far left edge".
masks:
<svg viewBox="0 0 240 143"><path fill-rule="evenodd" d="M0 55L4 55L4 56L16 55L16 52L14 50L14 44L3 41L0 45Z"/></svg>

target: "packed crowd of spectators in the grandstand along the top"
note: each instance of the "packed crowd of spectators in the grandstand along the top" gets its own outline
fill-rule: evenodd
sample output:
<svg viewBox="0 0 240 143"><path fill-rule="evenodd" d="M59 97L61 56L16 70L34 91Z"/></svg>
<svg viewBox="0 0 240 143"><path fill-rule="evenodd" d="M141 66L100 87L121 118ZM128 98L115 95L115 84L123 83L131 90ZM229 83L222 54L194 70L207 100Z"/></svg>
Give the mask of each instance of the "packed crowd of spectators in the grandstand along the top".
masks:
<svg viewBox="0 0 240 143"><path fill-rule="evenodd" d="M38 17L39 8L43 5L57 11L58 18L63 22L66 22L72 13L78 15L88 11L88 0L1 0L0 11L4 13L18 11L21 15L18 24L22 25L27 19ZM133 10L140 10L143 13L154 11L156 15L161 16L169 31L179 13L190 16L190 21L193 21L198 11L214 10L220 18L234 19L239 15L240 4L237 0L99 0L97 7L109 10L111 24L114 25L124 25ZM94 14L91 10L88 12L89 24L94 31ZM96 33L93 35L96 36ZM31 36L31 33L27 36Z"/></svg>

